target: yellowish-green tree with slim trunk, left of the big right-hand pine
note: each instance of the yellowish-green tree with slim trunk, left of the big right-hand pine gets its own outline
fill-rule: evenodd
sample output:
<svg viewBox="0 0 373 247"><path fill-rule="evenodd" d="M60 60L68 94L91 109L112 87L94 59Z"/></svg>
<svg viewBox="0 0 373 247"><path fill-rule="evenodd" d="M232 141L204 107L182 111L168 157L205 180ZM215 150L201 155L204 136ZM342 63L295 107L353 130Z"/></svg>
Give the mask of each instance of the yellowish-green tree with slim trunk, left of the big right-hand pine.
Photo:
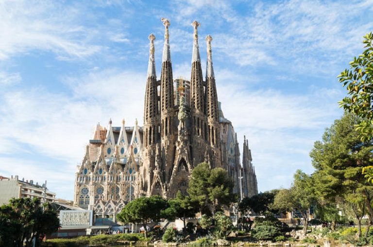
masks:
<svg viewBox="0 0 373 247"><path fill-rule="evenodd" d="M303 234L308 228L309 209L315 203L311 177L297 170L290 189L280 190L273 203L273 208L283 212L299 212L302 215Z"/></svg>

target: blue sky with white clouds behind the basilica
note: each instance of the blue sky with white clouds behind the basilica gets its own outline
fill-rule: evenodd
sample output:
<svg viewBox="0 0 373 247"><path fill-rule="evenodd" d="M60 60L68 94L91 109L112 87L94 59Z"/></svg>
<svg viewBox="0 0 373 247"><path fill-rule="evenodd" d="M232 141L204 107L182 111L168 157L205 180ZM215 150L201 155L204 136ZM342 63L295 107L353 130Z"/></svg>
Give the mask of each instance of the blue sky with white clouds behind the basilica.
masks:
<svg viewBox="0 0 373 247"><path fill-rule="evenodd" d="M190 77L196 19L203 71L211 35L218 97L249 140L259 191L288 187L342 114L336 76L362 52L372 11L372 0L2 0L0 175L47 179L72 199L93 126L142 124L148 35L159 76L165 17L174 77Z"/></svg>

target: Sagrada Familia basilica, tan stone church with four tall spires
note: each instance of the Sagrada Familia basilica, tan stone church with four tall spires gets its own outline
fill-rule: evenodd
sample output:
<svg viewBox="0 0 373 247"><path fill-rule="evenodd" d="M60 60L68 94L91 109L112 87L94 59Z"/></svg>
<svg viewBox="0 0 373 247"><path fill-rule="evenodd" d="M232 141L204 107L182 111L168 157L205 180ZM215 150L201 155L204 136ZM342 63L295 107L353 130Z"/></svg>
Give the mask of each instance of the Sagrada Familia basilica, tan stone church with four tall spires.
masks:
<svg viewBox="0 0 373 247"><path fill-rule="evenodd" d="M193 168L208 162L224 168L241 197L257 194L257 182L248 141L243 143L242 165L237 134L224 118L215 84L211 41L206 37L207 65L203 80L197 21L194 28L190 81L173 79L169 26L165 26L162 71L157 80L154 39L150 39L144 126L98 124L86 146L75 178L74 204L96 215L114 217L139 196L172 198L186 194Z"/></svg>

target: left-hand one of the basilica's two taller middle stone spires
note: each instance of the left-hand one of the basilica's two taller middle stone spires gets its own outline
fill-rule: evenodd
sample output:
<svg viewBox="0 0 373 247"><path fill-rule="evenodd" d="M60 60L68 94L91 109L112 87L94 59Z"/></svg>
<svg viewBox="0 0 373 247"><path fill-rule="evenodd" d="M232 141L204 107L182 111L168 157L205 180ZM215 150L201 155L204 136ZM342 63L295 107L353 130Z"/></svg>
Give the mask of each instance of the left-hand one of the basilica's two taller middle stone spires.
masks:
<svg viewBox="0 0 373 247"><path fill-rule="evenodd" d="M162 72L161 72L161 121L162 137L172 135L173 127L173 79L169 41L170 21L161 19L165 26L165 43L163 46Z"/></svg>

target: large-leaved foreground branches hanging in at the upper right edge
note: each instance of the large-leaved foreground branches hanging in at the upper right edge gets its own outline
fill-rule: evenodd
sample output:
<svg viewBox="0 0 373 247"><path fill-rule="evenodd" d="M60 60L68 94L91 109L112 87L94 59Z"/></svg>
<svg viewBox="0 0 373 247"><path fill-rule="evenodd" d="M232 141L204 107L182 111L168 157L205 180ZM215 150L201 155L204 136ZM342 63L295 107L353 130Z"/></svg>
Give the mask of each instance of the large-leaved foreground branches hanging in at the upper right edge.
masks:
<svg viewBox="0 0 373 247"><path fill-rule="evenodd" d="M339 105L360 117L356 123L362 141L373 137L373 34L364 36L364 51L350 62L350 68L339 74L339 82L347 88Z"/></svg>

